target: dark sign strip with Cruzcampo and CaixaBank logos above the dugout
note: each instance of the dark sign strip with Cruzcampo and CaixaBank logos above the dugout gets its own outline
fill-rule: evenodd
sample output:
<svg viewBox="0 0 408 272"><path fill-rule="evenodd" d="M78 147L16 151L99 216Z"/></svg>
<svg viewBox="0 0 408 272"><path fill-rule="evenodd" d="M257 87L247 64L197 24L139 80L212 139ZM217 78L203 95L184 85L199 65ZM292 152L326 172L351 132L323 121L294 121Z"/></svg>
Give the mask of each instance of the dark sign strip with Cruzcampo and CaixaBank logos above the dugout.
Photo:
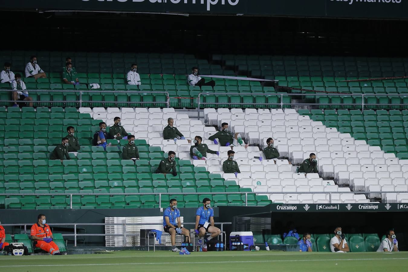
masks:
<svg viewBox="0 0 408 272"><path fill-rule="evenodd" d="M272 212L406 212L408 203L281 204L272 203Z"/></svg>

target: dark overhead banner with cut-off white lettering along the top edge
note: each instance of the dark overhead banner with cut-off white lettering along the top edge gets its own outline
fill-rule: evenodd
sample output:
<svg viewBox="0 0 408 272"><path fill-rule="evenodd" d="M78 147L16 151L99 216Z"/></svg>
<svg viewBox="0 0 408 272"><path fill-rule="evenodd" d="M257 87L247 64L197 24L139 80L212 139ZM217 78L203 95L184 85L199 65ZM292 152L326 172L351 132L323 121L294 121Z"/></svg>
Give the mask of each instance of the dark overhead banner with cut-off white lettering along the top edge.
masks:
<svg viewBox="0 0 408 272"><path fill-rule="evenodd" d="M407 0L13 0L1 1L0 8L326 18L408 18Z"/></svg>

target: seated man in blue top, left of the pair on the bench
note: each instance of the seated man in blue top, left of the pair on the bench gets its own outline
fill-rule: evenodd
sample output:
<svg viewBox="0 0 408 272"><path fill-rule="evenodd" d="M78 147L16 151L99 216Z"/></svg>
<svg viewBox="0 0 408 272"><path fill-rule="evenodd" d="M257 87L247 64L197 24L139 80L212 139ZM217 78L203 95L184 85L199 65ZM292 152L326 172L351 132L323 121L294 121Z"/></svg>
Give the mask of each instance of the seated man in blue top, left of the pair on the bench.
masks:
<svg viewBox="0 0 408 272"><path fill-rule="evenodd" d="M177 221L176 221L177 220ZM164 210L163 213L163 228L164 231L171 235L171 245L173 252L180 252L176 248L176 233L183 234L186 237L186 241L190 243L190 232L186 228L182 228L180 221L180 210L177 209L177 200L170 199L170 207Z"/></svg>

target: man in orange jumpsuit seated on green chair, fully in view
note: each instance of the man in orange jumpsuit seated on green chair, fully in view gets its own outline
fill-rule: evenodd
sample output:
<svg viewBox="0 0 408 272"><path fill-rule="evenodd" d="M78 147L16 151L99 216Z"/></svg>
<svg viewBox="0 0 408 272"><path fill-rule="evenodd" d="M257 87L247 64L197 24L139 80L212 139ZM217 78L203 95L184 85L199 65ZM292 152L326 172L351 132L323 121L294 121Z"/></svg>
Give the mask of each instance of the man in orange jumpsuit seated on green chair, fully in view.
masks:
<svg viewBox="0 0 408 272"><path fill-rule="evenodd" d="M33 245L49 252L51 255L61 255L58 245L52 241L51 229L45 222L45 215L40 214L37 223L31 226Z"/></svg>

